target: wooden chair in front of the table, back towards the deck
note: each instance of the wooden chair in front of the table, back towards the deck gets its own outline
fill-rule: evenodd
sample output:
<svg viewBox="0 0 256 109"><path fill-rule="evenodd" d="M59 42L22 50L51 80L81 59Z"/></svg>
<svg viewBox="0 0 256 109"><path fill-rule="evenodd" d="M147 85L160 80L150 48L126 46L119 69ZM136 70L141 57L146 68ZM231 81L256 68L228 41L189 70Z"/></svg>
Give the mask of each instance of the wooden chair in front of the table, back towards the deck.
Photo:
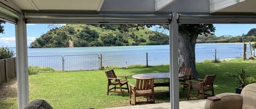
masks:
<svg viewBox="0 0 256 109"><path fill-rule="evenodd" d="M135 86L130 84L130 94L129 100L130 104L136 105L141 103L154 103L154 79L136 79ZM132 100L132 94L134 95L134 99ZM136 102L136 97L145 96L147 97L147 101ZM152 97L151 101L148 99Z"/></svg>

